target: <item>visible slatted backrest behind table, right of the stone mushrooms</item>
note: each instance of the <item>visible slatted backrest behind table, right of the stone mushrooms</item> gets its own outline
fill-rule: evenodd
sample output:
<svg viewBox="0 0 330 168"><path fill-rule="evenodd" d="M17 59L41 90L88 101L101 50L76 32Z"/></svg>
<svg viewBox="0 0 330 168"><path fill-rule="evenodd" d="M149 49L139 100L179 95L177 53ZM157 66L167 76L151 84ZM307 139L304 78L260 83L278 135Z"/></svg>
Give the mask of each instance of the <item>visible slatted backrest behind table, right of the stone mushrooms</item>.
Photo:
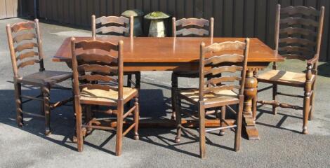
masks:
<svg viewBox="0 0 330 168"><path fill-rule="evenodd" d="M213 37L214 19L205 20L203 18L183 18L176 20L172 18L173 36L211 36ZM178 29L178 27L180 29ZM205 27L209 27L206 29ZM178 30L177 30L178 29Z"/></svg>

